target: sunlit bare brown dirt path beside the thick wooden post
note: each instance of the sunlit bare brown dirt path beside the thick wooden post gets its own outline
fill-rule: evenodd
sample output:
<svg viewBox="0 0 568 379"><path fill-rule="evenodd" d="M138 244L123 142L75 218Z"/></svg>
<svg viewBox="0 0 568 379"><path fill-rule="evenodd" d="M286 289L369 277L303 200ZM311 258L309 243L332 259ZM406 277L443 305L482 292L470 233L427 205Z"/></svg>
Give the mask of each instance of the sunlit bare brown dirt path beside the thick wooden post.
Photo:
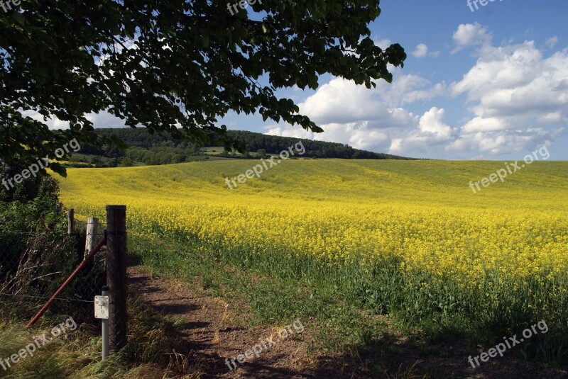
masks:
<svg viewBox="0 0 568 379"><path fill-rule="evenodd" d="M190 284L152 277L139 266L129 267L128 277L129 285L155 310L187 320L180 338L187 341L194 362L207 373L204 378L329 378L306 374L310 371L305 367L306 344L302 334L296 333L301 329L298 324L298 329L290 327L280 334L271 328L231 327L231 306L221 299L196 295ZM246 362L239 363L237 356L255 345L258 358L249 352L251 358L244 357Z"/></svg>

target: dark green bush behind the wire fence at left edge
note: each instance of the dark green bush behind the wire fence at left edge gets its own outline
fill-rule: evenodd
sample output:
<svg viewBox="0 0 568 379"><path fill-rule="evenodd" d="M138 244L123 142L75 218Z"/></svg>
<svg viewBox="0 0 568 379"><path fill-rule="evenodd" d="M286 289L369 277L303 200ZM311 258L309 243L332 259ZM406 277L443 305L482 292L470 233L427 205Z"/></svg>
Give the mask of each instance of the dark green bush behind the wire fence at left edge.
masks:
<svg viewBox="0 0 568 379"><path fill-rule="evenodd" d="M10 201L0 201L0 312L18 319L35 314L80 264L85 240L84 231L67 234L55 179L41 176L27 183L25 191L19 186L4 191ZM60 298L92 300L104 281L104 267L91 264ZM58 300L50 311L80 319L90 315L91 308L87 302Z"/></svg>

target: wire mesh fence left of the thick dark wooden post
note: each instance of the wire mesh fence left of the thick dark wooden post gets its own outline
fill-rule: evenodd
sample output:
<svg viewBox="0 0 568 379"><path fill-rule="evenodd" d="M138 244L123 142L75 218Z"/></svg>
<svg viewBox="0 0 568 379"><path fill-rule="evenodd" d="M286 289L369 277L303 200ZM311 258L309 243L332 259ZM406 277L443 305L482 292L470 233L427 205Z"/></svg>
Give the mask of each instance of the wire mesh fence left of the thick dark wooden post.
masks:
<svg viewBox="0 0 568 379"><path fill-rule="evenodd" d="M87 222L74 220L69 233L60 220L0 220L0 311L29 319L85 257ZM92 233L94 245L106 225ZM106 283L106 249L101 249L58 296L50 312L92 321L94 295Z"/></svg>

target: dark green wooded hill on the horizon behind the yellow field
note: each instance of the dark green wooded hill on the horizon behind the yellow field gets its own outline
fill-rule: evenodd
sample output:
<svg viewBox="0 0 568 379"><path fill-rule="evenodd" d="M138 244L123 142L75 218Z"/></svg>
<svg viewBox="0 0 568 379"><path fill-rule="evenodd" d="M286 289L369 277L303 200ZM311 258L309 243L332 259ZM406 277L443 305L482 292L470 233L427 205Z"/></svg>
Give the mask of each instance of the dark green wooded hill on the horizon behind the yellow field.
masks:
<svg viewBox="0 0 568 379"><path fill-rule="evenodd" d="M170 135L151 135L146 128L106 128L96 129L99 135L116 135L129 149L116 146L102 148L84 145L77 154L77 160L97 166L116 166L131 164L168 164L190 162L202 159L220 158L258 158L279 154L288 147L302 141L305 153L302 157L343 158L343 159L411 159L391 154L368 152L354 149L349 145L335 142L321 142L294 137L264 135L241 130L229 130L231 139L244 142L249 152L246 154L225 152L222 147L199 146L192 142L175 140Z"/></svg>

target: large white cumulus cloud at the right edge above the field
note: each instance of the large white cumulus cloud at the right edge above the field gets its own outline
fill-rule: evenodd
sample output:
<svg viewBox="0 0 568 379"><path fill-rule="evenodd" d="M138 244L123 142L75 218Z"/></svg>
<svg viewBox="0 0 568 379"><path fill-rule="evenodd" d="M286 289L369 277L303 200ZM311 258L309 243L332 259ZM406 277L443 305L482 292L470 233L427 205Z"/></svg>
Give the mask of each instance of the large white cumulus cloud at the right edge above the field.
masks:
<svg viewBox="0 0 568 379"><path fill-rule="evenodd" d="M505 154L550 144L568 123L568 50L545 57L534 41L485 47L450 90L466 95L474 117L447 151Z"/></svg>

